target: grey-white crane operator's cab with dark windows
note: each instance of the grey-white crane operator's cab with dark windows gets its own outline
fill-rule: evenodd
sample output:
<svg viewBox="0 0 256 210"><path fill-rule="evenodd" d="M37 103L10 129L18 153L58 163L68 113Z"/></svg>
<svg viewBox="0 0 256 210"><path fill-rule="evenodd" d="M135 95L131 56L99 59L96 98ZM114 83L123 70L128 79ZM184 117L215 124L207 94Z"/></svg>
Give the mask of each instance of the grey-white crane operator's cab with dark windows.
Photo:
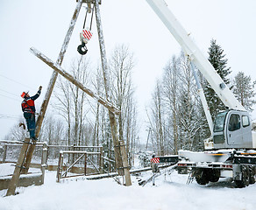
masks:
<svg viewBox="0 0 256 210"><path fill-rule="evenodd" d="M249 113L233 109L218 113L213 127L213 146L214 149L253 148Z"/></svg>

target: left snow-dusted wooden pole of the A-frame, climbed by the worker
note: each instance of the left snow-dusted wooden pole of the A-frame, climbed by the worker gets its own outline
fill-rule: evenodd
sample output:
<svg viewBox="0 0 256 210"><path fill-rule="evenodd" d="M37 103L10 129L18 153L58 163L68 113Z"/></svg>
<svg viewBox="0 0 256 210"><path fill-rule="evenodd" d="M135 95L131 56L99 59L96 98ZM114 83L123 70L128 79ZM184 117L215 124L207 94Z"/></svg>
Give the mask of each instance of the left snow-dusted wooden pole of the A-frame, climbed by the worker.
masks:
<svg viewBox="0 0 256 210"><path fill-rule="evenodd" d="M76 23L76 20L78 18L81 7L82 7L82 0L79 0L78 3L76 4L74 15L71 19L71 22L70 22L70 25L69 25L69 28L68 28L68 32L66 34L66 37L64 38L64 42L63 42L63 45L61 46L59 57L58 57L57 62L56 62L59 66L61 66L62 61L64 59L65 52L67 51L68 43L69 43L69 40L71 38L72 32L74 31L75 23ZM37 123L36 123L35 136L37 138L39 137L39 132L41 130L41 126L42 126L44 117L46 115L46 109L47 109L48 103L50 101L51 95L53 94L53 88L54 88L55 82L57 80L57 77L58 77L58 73L56 71L53 71L51 80L50 80L48 88L46 90L45 100L41 105L41 109L40 109L40 112L39 112L39 117L38 117ZM31 144L28 151L27 151L27 155L26 155L26 158L25 158L25 169L22 171L23 173L27 173L28 170L29 170L34 149L35 149L35 144Z"/></svg>

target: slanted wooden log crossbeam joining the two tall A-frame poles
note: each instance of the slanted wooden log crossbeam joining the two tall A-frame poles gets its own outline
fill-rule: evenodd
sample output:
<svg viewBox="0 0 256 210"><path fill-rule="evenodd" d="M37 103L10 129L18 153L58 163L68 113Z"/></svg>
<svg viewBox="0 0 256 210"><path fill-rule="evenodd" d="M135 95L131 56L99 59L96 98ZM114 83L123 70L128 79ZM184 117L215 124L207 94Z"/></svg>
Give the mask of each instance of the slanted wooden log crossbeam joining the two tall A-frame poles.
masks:
<svg viewBox="0 0 256 210"><path fill-rule="evenodd" d="M59 65L54 64L53 61L51 59L48 59L46 57L46 55L44 55L43 53L39 52L38 50L36 50L35 48L31 48L30 51L37 56L39 59L41 59L42 61L44 61L48 66L52 67L54 71L56 71L57 73L60 73L60 75L62 75L64 78L66 78L68 81L70 81L71 83L73 83L76 87L82 89L83 92L85 92L86 94L88 94L89 96L91 96L92 98L94 98L97 102L101 103L106 109L109 109L110 112L114 113L115 115L119 115L120 114L120 110L118 110L117 108L115 108L110 102L106 101L105 99L103 99L103 97L101 97L100 95L96 95L96 93L94 93L93 91L91 91L89 88L86 88L82 85L81 82L76 81L75 78L69 74L68 72L66 72L64 69L62 69Z"/></svg>

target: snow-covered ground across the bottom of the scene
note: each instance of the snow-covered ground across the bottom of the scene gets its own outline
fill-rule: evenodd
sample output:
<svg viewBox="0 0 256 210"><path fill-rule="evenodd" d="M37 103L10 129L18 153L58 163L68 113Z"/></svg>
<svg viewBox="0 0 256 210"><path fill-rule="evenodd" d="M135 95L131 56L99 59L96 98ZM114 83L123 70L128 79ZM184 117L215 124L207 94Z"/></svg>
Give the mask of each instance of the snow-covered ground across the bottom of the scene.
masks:
<svg viewBox="0 0 256 210"><path fill-rule="evenodd" d="M144 172L143 179L151 172ZM256 209L256 184L233 188L226 179L208 186L196 181L186 185L187 175L173 172L142 187L132 176L132 186L117 185L114 179L67 180L55 182L56 172L46 172L45 185L18 188L18 195L4 197L0 191L0 210L170 210L170 209Z"/></svg>

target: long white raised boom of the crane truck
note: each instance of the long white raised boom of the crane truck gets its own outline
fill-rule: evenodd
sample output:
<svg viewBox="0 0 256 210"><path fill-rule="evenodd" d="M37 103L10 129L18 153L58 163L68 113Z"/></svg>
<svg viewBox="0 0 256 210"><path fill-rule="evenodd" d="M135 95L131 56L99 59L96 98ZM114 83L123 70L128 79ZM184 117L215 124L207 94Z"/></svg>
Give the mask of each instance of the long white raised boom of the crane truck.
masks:
<svg viewBox="0 0 256 210"><path fill-rule="evenodd" d="M178 20L174 17L174 14L168 9L165 1L146 1L164 25L167 26L167 29L173 34L184 52L186 52L189 58L193 60L204 78L210 83L211 88L214 89L221 101L224 102L224 105L229 109L245 110L236 97L231 93L231 90L225 85L222 78L210 64L210 61L203 56L203 52L201 52L191 38L189 38L187 31L184 30Z"/></svg>

